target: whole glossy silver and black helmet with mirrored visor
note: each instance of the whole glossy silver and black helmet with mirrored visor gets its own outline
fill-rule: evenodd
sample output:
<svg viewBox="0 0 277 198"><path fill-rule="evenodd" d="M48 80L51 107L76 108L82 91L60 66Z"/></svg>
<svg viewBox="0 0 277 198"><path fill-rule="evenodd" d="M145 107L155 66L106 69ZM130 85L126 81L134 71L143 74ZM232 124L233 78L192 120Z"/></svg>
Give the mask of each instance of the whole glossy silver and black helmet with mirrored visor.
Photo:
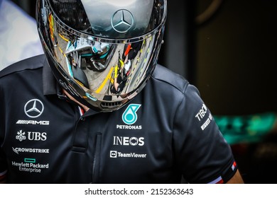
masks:
<svg viewBox="0 0 277 198"><path fill-rule="evenodd" d="M119 109L146 85L158 59L166 13L166 0L36 4L38 34L53 75L75 100L102 112Z"/></svg>

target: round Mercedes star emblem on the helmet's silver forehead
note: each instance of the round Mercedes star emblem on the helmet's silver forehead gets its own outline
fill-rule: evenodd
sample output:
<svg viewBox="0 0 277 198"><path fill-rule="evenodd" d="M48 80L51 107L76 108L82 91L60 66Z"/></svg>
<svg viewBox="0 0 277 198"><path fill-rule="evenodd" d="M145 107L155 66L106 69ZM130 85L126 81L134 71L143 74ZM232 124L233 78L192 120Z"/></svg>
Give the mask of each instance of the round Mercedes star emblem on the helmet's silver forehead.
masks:
<svg viewBox="0 0 277 198"><path fill-rule="evenodd" d="M112 16L112 28L118 33L126 33L134 25L134 17L130 11L121 9Z"/></svg>

